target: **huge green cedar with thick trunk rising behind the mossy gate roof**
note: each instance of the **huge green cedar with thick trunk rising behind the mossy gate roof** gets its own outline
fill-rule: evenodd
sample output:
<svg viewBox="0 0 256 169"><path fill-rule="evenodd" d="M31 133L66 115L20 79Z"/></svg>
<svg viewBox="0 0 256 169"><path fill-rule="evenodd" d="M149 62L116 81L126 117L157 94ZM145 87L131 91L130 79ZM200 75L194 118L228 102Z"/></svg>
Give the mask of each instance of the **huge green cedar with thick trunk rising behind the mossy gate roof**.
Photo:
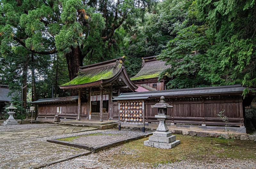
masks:
<svg viewBox="0 0 256 169"><path fill-rule="evenodd" d="M122 24L136 25L155 0L50 0L1 1L0 52L7 56L12 45L44 55L58 52L67 60L69 79L79 66L119 55Z"/></svg>

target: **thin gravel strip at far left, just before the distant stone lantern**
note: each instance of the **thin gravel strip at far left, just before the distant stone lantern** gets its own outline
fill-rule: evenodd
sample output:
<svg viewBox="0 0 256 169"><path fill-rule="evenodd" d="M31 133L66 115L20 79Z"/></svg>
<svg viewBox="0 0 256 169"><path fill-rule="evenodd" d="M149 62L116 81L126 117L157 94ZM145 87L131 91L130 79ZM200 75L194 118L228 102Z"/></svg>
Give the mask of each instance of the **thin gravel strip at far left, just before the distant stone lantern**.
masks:
<svg viewBox="0 0 256 169"><path fill-rule="evenodd" d="M58 124L22 124L22 125L7 125L0 126L0 132L2 131L11 131L11 130L22 130L22 129L30 129L30 128L43 128L49 126L58 126Z"/></svg>

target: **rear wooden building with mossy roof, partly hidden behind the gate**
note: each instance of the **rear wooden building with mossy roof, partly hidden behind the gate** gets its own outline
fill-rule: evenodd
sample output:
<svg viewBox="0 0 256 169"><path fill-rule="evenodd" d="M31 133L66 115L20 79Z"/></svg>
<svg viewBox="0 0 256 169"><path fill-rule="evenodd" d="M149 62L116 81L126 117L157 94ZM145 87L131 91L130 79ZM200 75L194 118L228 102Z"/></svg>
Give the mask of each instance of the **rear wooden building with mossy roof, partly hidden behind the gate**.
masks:
<svg viewBox="0 0 256 169"><path fill-rule="evenodd" d="M158 81L160 73L170 66L165 65L165 62L156 60L156 56L142 58L140 72L131 78L136 85L143 86L151 91L165 90L166 83L171 80L168 76L164 76L161 81Z"/></svg>

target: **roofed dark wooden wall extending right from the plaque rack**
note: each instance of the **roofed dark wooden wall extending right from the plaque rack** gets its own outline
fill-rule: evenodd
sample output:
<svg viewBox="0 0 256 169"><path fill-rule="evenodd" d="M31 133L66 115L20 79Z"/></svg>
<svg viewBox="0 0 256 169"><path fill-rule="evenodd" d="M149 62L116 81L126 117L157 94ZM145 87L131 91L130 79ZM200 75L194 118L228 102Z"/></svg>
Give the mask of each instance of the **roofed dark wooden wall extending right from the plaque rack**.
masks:
<svg viewBox="0 0 256 169"><path fill-rule="evenodd" d="M144 102L146 122L158 122L155 119L157 110L151 108L159 102L161 96L166 103L173 106L167 113L170 118L166 121L171 124L199 124L199 125L225 125L217 117L220 111L228 117L230 126L244 127L245 106L251 104L255 93L249 92L245 98L242 96L245 87L241 85L228 85L204 88L185 88L140 93L122 93L115 101L131 103L140 99ZM125 121L124 121L125 122Z"/></svg>

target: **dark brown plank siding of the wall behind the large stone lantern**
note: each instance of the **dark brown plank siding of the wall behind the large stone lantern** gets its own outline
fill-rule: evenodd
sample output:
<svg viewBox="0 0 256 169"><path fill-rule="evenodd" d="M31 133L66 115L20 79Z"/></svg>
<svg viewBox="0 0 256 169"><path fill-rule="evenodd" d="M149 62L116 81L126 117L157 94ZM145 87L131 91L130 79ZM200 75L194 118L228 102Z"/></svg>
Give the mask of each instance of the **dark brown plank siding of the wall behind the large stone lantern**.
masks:
<svg viewBox="0 0 256 169"><path fill-rule="evenodd" d="M243 126L243 111L238 97L211 97L211 98L192 98L192 99L166 99L173 108L167 109L170 119L167 122L184 124L206 124L206 125L225 125L217 114L223 109L228 116L231 126ZM151 105L158 103L159 100L145 101L147 111L146 116L149 122L157 122L155 115L157 109Z"/></svg>

